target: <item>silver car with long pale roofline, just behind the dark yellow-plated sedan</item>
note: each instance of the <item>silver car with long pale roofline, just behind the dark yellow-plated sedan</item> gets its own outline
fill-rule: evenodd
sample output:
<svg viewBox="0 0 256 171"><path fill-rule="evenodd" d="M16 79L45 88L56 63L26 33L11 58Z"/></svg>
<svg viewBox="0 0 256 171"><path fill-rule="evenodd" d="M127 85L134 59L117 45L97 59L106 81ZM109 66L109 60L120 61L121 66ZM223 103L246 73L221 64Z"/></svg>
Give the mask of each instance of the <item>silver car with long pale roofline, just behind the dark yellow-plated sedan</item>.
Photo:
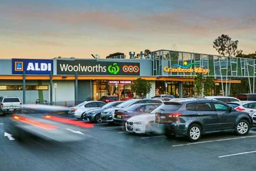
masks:
<svg viewBox="0 0 256 171"><path fill-rule="evenodd" d="M146 103L157 103L157 104L163 104L162 100L159 99L131 99L127 100L119 105L117 105L115 108L106 109L101 113L101 120L103 122L109 122L113 123L114 119L114 113L117 109L123 109L128 106L131 106L133 104L146 104Z"/></svg>

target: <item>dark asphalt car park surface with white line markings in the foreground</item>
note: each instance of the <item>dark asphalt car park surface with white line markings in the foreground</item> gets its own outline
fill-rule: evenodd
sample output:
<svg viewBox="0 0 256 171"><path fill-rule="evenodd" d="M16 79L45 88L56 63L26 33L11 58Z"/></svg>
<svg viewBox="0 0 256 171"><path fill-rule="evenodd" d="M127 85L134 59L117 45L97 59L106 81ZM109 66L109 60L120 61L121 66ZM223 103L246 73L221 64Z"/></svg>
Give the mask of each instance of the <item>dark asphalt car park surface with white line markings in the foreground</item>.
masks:
<svg viewBox="0 0 256 171"><path fill-rule="evenodd" d="M99 123L70 127L82 133L77 134L85 137L82 141L56 142L33 136L10 140L4 136L6 119L0 117L0 170L254 170L256 166L255 128L246 136L214 133L189 142L183 136L134 134Z"/></svg>

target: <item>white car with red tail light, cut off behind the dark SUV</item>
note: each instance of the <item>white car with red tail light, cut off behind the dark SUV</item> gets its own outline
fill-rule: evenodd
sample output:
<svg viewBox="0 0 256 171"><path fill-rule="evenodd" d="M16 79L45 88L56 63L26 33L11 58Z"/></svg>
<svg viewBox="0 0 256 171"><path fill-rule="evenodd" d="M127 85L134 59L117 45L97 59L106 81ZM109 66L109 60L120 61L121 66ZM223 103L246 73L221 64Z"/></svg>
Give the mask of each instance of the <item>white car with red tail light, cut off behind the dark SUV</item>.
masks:
<svg viewBox="0 0 256 171"><path fill-rule="evenodd" d="M248 112L251 115L256 112L256 101L229 102L227 104L238 111Z"/></svg>

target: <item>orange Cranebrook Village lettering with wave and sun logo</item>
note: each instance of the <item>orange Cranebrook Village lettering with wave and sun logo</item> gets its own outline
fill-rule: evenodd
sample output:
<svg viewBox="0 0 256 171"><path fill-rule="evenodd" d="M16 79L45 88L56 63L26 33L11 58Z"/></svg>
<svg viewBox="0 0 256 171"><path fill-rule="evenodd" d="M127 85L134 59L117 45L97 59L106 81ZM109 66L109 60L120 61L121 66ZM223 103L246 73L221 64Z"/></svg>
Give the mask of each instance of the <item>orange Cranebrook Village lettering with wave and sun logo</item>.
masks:
<svg viewBox="0 0 256 171"><path fill-rule="evenodd" d="M187 64L187 62L184 62L184 65L172 65L172 67L178 67L178 68L169 68L164 67L164 72L190 72L190 73L203 73L208 74L210 72L209 69L203 69L202 67L194 67L192 68L191 65L198 64L197 62L193 62L190 64Z"/></svg>

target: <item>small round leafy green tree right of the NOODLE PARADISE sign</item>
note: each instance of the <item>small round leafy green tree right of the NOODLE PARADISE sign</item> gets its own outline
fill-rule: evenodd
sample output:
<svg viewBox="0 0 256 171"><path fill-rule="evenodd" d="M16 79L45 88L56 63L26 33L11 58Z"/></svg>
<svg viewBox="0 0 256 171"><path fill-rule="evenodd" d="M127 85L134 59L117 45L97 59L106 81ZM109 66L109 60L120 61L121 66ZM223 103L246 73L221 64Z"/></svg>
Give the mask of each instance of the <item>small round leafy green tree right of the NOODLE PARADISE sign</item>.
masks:
<svg viewBox="0 0 256 171"><path fill-rule="evenodd" d="M131 84L131 90L135 92L139 97L145 97L148 93L150 93L151 88L151 83L142 78L137 78Z"/></svg>

